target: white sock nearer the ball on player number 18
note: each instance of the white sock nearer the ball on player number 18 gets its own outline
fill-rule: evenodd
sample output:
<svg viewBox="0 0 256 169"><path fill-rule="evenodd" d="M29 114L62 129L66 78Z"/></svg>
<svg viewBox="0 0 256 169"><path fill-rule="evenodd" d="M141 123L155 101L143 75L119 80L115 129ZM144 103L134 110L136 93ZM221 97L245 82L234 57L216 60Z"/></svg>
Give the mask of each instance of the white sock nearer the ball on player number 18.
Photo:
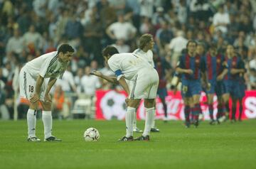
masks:
<svg viewBox="0 0 256 169"><path fill-rule="evenodd" d="M43 129L45 138L52 136L53 117L51 111L43 111Z"/></svg>

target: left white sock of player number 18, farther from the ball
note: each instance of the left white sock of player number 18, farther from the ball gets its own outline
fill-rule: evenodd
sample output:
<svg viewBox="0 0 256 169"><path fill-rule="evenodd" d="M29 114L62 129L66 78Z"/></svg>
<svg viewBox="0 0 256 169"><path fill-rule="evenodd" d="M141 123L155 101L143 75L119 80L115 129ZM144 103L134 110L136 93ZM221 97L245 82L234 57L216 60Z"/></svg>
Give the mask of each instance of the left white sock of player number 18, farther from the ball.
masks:
<svg viewBox="0 0 256 169"><path fill-rule="evenodd" d="M36 137L36 110L28 109L27 124L28 137Z"/></svg>

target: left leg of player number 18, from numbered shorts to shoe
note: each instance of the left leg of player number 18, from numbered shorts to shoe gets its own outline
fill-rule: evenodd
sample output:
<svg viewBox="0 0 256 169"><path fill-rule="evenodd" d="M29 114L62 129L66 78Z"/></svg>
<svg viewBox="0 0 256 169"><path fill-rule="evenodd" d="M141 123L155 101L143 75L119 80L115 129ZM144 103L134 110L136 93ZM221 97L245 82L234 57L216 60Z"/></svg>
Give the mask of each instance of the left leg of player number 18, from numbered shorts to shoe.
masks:
<svg viewBox="0 0 256 169"><path fill-rule="evenodd" d="M29 99L36 91L34 80L29 73L27 73L24 68L21 69L19 75L20 84L20 95L22 99ZM29 108L26 114L27 124L28 124L28 141L41 141L36 137L36 112L38 109L38 102L29 103Z"/></svg>

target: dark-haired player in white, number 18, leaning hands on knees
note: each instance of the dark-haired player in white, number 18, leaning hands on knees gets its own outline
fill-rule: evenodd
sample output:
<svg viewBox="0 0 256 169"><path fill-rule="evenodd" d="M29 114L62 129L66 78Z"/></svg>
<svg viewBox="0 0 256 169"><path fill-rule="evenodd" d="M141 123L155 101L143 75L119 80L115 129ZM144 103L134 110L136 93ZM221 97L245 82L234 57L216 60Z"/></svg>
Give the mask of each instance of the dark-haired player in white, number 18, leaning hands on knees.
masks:
<svg viewBox="0 0 256 169"><path fill-rule="evenodd" d="M19 83L21 97L29 101L27 113L28 141L41 141L36 137L38 102L43 108L44 141L61 141L52 136L52 101L49 92L57 78L62 78L74 51L70 45L63 44L60 45L58 51L41 55L22 67Z"/></svg>

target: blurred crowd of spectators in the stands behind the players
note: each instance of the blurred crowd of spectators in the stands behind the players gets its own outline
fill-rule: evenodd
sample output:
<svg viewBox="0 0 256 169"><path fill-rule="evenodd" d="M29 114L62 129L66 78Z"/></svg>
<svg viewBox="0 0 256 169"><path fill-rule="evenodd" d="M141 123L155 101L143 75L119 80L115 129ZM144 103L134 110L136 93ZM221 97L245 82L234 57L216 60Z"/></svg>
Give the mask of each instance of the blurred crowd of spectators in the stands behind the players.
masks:
<svg viewBox="0 0 256 169"><path fill-rule="evenodd" d="M92 70L113 75L102 48L114 45L120 53L132 52L144 33L154 36L154 53L173 70L190 39L203 44L205 53L216 43L225 55L225 46L232 44L245 60L247 89L256 89L255 0L0 0L0 111L11 114L1 117L13 118L14 77L26 62L60 43L75 48L53 91L58 111L72 103L64 94L92 97L95 89L110 89L112 85L90 75Z"/></svg>

